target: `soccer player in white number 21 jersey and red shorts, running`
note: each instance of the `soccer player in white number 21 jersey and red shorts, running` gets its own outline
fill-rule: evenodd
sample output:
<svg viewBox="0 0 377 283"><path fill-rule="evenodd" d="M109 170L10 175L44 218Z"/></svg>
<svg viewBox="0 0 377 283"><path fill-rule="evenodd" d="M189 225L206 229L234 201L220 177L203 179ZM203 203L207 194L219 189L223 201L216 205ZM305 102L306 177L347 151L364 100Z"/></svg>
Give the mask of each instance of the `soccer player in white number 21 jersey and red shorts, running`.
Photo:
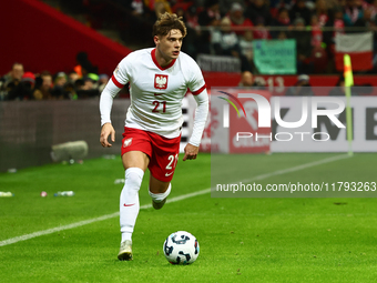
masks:
<svg viewBox="0 0 377 283"><path fill-rule="evenodd" d="M193 133L184 149L183 161L194 160L208 113L208 95L196 62L181 52L186 28L176 14L164 13L153 26L155 48L131 52L116 67L101 100L101 138L104 148L115 141L110 113L113 98L128 82L131 105L122 140L125 170L120 196L122 241L119 260L132 260L132 233L140 210L139 190L146 169L151 176L149 193L153 208L161 209L171 192L179 159L182 129L182 99L187 89L197 103Z"/></svg>

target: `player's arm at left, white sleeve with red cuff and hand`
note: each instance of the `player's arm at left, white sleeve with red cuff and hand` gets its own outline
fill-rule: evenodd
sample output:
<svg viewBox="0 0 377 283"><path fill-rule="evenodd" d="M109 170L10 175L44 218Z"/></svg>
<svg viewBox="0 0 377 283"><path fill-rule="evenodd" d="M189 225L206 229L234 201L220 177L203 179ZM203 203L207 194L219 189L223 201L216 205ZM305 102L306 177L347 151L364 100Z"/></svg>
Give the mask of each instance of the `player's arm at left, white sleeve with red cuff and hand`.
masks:
<svg viewBox="0 0 377 283"><path fill-rule="evenodd" d="M112 142L115 142L115 130L111 124L111 109L115 95L128 82L125 59L123 59L122 62L116 67L113 75L111 77L111 80L109 80L106 87L103 89L101 93L100 112L102 130L100 135L100 142L103 148L112 146L112 144L109 142L109 137L111 137Z"/></svg>

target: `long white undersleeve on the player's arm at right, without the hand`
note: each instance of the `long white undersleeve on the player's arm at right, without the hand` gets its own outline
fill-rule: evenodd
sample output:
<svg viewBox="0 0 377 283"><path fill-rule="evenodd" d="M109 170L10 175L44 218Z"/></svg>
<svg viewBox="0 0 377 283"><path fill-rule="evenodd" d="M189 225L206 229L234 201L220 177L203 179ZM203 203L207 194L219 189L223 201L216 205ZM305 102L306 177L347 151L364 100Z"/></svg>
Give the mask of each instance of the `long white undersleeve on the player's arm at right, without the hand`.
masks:
<svg viewBox="0 0 377 283"><path fill-rule="evenodd" d="M194 95L197 103L194 118L194 128L191 134L188 143L198 146L201 144L205 122L208 115L208 94L207 90L204 89L200 94Z"/></svg>

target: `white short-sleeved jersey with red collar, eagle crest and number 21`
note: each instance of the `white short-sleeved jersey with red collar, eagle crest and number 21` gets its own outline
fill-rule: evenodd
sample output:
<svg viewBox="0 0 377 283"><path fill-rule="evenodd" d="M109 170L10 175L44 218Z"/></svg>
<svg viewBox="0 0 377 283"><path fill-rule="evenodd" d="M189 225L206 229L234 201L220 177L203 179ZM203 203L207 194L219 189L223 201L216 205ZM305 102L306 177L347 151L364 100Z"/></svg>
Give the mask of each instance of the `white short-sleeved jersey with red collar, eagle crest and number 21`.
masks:
<svg viewBox="0 0 377 283"><path fill-rule="evenodd" d="M119 88L130 82L131 105L125 125L172 139L181 133L182 99L187 89L195 94L205 90L196 62L180 52L177 59L162 68L155 49L142 49L126 55L116 67L112 81Z"/></svg>

